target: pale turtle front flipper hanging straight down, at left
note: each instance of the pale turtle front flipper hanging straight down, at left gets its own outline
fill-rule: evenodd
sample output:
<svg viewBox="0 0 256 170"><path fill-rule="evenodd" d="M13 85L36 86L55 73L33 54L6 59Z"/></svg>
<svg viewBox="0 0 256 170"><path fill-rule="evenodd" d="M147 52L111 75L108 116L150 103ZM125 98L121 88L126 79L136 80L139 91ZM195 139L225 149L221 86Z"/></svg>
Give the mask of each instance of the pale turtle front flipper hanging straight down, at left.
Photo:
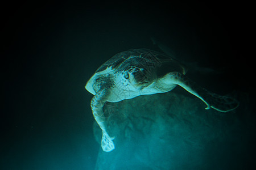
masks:
<svg viewBox="0 0 256 170"><path fill-rule="evenodd" d="M105 152L110 152L114 150L114 142L112 141L114 138L109 137L109 134L106 131L106 120L103 112L103 107L106 102L107 94L104 90L100 90L94 95L92 101L90 102L90 107L92 108L93 117L95 118L97 124L100 126L102 130L102 139L101 139L101 147Z"/></svg>

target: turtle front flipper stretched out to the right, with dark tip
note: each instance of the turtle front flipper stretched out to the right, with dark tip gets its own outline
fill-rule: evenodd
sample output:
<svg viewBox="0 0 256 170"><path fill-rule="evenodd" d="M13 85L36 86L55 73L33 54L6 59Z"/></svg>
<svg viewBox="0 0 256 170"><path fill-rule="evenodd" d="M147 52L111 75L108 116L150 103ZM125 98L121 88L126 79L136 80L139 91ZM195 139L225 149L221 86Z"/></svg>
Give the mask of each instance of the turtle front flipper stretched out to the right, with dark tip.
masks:
<svg viewBox="0 0 256 170"><path fill-rule="evenodd" d="M207 105L207 108L213 108L219 112L229 112L236 109L239 105L238 101L228 96L221 96L209 92L204 88L199 87L195 82L188 79L187 76L172 72L163 77L164 83L177 84L183 87L191 94L199 97Z"/></svg>

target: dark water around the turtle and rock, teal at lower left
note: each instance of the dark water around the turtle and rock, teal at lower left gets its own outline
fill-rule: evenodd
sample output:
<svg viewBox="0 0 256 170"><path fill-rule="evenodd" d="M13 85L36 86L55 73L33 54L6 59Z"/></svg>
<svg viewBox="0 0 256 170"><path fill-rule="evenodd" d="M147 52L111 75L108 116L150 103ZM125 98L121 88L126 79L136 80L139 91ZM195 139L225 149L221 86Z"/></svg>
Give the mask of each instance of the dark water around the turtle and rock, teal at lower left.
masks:
<svg viewBox="0 0 256 170"><path fill-rule="evenodd" d="M243 94L250 114L241 111L237 117L242 127L250 127L242 133L254 134L254 61L248 54L250 10L245 5L27 1L5 8L0 169L94 169L99 145L85 83L118 52L160 50L151 37L177 58L220 70L191 76L218 94ZM252 135L241 144L247 143L250 152L238 152L240 167L253 166L254 142Z"/></svg>

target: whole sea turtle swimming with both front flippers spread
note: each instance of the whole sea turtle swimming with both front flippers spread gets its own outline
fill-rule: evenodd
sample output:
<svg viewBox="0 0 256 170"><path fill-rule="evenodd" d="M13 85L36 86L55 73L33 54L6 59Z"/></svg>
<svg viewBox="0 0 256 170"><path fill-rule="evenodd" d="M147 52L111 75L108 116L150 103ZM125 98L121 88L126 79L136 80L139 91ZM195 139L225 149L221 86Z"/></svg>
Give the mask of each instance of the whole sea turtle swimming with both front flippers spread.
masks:
<svg viewBox="0 0 256 170"><path fill-rule="evenodd" d="M115 54L101 65L85 88L94 95L90 106L102 130L102 150L110 152L115 148L102 110L106 101L118 102L140 95L164 93L179 85L204 101L205 109L228 112L238 107L238 102L231 97L216 95L197 86L185 76L186 72L186 67L176 59L148 49L131 49Z"/></svg>

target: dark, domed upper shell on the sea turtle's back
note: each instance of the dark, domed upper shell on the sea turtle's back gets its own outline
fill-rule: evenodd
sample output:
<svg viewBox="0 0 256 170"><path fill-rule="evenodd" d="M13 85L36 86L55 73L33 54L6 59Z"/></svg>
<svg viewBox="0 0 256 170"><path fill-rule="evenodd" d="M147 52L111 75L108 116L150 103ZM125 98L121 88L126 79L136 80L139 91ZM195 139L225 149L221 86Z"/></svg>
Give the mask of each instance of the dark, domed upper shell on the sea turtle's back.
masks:
<svg viewBox="0 0 256 170"><path fill-rule="evenodd" d="M166 54L149 49L131 49L115 54L101 65L96 73L106 70L108 67L112 67L112 70L119 72L129 70L134 66L148 71L156 70L158 76L163 76L171 71L185 74L186 70L184 65Z"/></svg>

